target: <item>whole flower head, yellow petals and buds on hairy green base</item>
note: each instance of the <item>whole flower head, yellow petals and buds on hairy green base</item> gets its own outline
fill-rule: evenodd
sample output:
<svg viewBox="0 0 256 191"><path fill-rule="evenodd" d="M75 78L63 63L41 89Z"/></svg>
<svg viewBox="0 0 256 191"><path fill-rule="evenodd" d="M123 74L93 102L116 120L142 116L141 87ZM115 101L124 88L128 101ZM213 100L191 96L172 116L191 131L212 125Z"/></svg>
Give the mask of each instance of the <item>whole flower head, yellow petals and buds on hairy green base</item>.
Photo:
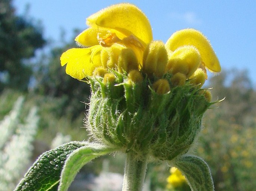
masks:
<svg viewBox="0 0 256 191"><path fill-rule="evenodd" d="M188 152L212 104L201 90L206 69L220 65L209 41L195 29L153 41L138 7L121 3L87 18L76 38L84 48L61 56L66 72L92 87L87 127L107 145L172 160Z"/></svg>

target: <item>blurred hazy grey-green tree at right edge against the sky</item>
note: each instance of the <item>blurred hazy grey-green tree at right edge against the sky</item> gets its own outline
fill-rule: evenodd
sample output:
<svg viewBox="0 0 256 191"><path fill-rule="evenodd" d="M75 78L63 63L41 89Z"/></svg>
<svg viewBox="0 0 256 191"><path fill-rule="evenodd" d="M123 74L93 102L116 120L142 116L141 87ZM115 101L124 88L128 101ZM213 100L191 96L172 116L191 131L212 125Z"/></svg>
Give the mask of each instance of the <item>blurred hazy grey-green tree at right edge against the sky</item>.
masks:
<svg viewBox="0 0 256 191"><path fill-rule="evenodd" d="M225 98L219 104L223 119L244 125L248 117L256 115L256 92L246 70L222 71L220 76L211 78L210 87L214 87L213 99Z"/></svg>

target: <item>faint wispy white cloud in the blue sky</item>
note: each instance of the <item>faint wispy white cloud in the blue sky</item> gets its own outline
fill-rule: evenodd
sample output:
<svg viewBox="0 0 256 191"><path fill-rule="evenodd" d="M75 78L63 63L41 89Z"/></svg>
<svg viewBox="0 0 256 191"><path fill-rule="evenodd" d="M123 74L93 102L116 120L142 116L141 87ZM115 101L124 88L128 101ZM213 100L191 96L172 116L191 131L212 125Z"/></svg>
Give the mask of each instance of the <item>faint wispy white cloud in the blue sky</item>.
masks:
<svg viewBox="0 0 256 191"><path fill-rule="evenodd" d="M202 20L198 18L194 12L177 13L173 12L170 14L171 19L185 22L189 25L201 25Z"/></svg>

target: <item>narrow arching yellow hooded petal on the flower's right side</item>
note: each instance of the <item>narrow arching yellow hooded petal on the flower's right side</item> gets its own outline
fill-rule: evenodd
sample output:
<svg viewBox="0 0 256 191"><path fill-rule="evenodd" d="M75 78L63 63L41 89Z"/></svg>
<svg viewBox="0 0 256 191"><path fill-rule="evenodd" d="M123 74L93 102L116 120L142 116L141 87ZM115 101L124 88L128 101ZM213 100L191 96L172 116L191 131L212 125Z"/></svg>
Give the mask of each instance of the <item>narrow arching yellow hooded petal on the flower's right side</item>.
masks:
<svg viewBox="0 0 256 191"><path fill-rule="evenodd" d="M175 32L166 42L166 48L175 51L178 47L193 45L200 52L205 66L215 72L220 72L219 60L207 38L195 29L183 29Z"/></svg>

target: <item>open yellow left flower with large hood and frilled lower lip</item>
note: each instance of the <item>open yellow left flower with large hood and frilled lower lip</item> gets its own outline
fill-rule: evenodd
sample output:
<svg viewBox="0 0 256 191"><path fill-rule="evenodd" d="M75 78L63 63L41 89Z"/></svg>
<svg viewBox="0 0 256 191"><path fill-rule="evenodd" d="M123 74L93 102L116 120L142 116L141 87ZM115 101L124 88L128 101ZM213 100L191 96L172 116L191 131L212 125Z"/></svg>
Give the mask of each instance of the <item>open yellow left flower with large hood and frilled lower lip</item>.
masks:
<svg viewBox="0 0 256 191"><path fill-rule="evenodd" d="M89 48L73 48L61 56L61 66L67 64L66 73L80 80L92 76L96 67L103 66L102 60L108 59L108 55L104 54L99 59L101 52L108 52L113 44L132 48L141 63L145 47L152 41L147 17L128 3L113 5L91 15L87 18L87 25L90 28L79 34L75 41ZM116 47L121 51L121 46ZM118 53L113 52L111 58L117 56ZM115 65L117 63L112 63L111 67Z"/></svg>

